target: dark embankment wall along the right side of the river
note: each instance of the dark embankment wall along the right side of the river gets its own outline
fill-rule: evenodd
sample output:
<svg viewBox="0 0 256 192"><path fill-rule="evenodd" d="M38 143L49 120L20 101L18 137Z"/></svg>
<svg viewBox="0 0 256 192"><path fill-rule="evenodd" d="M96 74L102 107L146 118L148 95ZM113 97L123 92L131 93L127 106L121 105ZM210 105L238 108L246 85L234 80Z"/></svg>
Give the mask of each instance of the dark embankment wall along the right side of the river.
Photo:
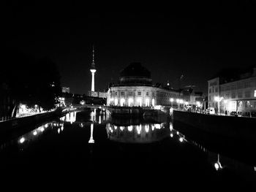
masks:
<svg viewBox="0 0 256 192"><path fill-rule="evenodd" d="M173 111L173 128L212 151L256 164L256 119Z"/></svg>

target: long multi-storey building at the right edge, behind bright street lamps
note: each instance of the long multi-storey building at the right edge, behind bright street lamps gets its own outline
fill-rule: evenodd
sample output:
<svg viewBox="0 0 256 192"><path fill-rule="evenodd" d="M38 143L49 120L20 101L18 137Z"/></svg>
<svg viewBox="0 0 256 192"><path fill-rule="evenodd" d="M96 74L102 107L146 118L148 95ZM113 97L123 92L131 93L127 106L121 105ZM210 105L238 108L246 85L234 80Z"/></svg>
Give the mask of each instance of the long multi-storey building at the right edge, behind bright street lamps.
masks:
<svg viewBox="0 0 256 192"><path fill-rule="evenodd" d="M256 67L232 77L208 80L208 107L241 115L256 112Z"/></svg>

